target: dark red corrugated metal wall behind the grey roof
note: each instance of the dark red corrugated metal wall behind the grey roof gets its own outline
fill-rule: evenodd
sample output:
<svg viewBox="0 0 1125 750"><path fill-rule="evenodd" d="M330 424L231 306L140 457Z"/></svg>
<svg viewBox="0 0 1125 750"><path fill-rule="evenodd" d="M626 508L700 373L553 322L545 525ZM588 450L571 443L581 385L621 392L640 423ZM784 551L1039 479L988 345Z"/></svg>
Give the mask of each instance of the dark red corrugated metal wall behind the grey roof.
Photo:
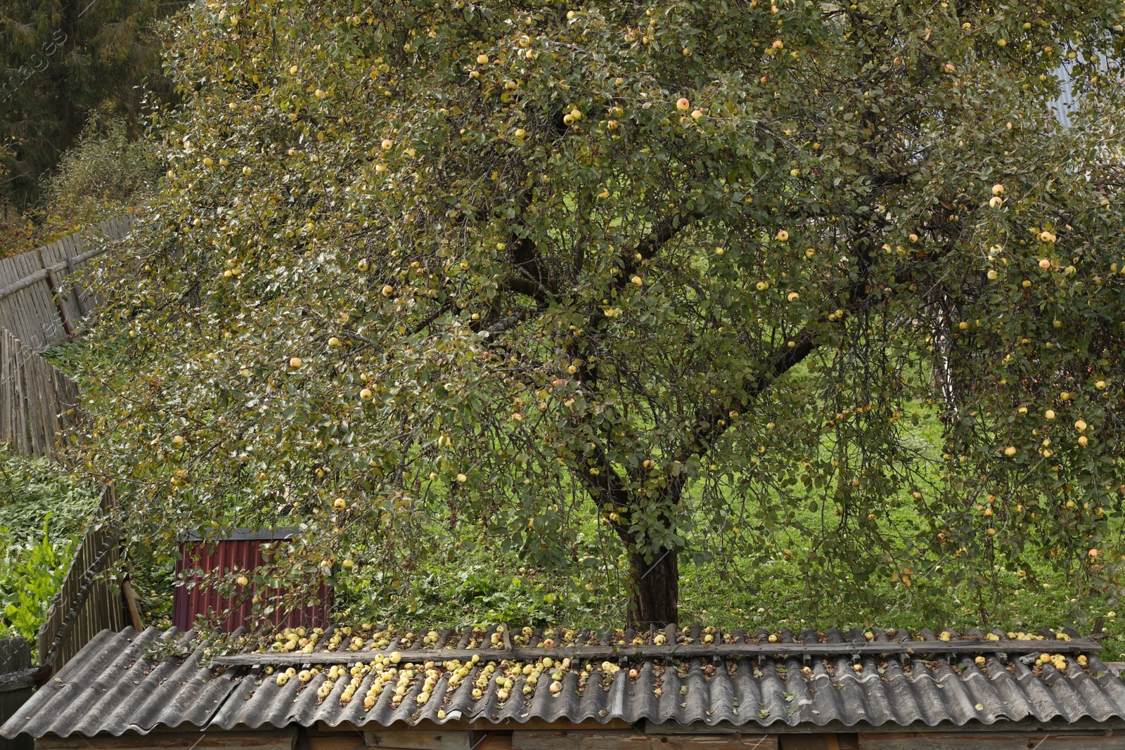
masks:
<svg viewBox="0 0 1125 750"><path fill-rule="evenodd" d="M246 571L262 564L262 544L287 544L281 540L269 539L232 539L218 542L184 541L180 543L180 560L176 563L177 581L198 581L198 576L186 576L189 570L204 571ZM198 561L196 560L198 558ZM271 589L268 595L274 591ZM296 627L298 625L325 626L328 624L332 605L332 589L327 582L321 582L321 590L317 595L321 604L310 605L288 612L276 612L268 620L254 622L251 618L250 597L236 603L234 599L219 596L209 586L176 586L172 596L172 624L180 630L189 630L195 623L196 615L208 612L222 613L231 608L231 615L223 621L222 625L227 631L236 627L249 627L251 631L258 630L262 625L269 624L271 627Z"/></svg>

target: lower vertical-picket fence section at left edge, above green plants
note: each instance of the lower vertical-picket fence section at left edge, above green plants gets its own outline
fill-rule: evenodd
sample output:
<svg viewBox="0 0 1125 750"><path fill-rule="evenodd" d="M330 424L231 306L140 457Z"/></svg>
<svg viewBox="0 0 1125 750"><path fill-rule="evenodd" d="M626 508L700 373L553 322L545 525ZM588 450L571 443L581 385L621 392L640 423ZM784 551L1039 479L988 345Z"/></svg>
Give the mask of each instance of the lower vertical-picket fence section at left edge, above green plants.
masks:
<svg viewBox="0 0 1125 750"><path fill-rule="evenodd" d="M2 304L2 302L0 302ZM54 457L78 418L78 385L0 331L0 443L35 458Z"/></svg>

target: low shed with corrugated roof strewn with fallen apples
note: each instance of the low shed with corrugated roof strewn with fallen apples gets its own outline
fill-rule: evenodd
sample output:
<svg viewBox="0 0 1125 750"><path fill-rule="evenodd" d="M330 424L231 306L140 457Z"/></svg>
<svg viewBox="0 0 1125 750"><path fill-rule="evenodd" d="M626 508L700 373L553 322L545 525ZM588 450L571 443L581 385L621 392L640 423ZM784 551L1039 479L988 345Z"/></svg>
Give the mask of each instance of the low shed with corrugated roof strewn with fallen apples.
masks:
<svg viewBox="0 0 1125 750"><path fill-rule="evenodd" d="M35 747L1125 750L1073 632L106 631L3 725Z"/></svg>

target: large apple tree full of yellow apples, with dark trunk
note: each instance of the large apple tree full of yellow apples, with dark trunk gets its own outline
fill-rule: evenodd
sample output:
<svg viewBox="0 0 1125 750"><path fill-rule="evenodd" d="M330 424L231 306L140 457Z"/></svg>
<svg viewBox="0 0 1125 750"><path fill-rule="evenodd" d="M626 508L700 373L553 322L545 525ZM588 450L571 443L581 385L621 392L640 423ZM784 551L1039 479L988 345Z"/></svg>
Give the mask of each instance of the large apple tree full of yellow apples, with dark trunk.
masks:
<svg viewBox="0 0 1125 750"><path fill-rule="evenodd" d="M1108 580L1122 11L192 4L82 460L136 534L299 518L295 566L442 516L565 570L597 524L642 625L782 526L824 590L1033 540Z"/></svg>

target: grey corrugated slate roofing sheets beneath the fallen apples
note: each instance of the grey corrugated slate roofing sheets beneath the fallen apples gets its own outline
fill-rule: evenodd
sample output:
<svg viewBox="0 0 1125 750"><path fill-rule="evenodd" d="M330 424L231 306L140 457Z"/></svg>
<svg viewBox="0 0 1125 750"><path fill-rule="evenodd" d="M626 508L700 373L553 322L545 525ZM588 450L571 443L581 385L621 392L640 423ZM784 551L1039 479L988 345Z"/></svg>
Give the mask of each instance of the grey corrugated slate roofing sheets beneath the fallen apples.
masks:
<svg viewBox="0 0 1125 750"><path fill-rule="evenodd" d="M844 650L808 659L799 656L734 658L718 653L683 660L622 656L613 661L623 666L622 671L612 677L608 674L612 674L614 667L604 670L594 663L583 679L585 663L576 662L564 671L557 695L550 692L550 679L544 675L530 695L522 690L526 678L521 676L515 678L506 701L498 699L502 687L495 678L488 680L479 698L474 698L475 680L487 661L495 657L495 650L487 645L493 632L477 631L484 633L483 638L477 638L472 631L466 631L458 641L456 633L451 636L447 631L435 645L428 644L438 659L443 658L442 651L447 648L479 649L480 662L472 665L470 674L454 688L450 688L453 672L438 663L435 684L424 703L417 702L424 689L423 675L418 674L410 681L399 703L393 701L395 681L392 680L378 693L375 705L364 710L363 697L377 670L363 675L354 697L342 704L348 678L339 679L331 693L322 698L317 690L326 679L323 671L306 684L294 678L278 685L277 676L266 676L260 666L200 666L204 647L196 643L190 633L174 629L163 633L155 629L143 633L132 629L120 633L105 631L54 680L37 690L4 724L0 734L14 737L27 732L39 738L78 733L89 737L98 733L119 735L126 731L145 733L158 726L228 730L235 726L312 726L316 722L330 726L344 722L354 725L414 724L423 720L434 723L456 720L526 722L531 719L572 722L619 719L631 723L645 720L680 724L729 722L785 731L798 724L822 726L832 722L847 726L917 723L934 726L939 723L991 724L1005 720L1125 719L1125 681L1097 656L1089 653L1084 668L1074 653L1065 656L1065 670L1050 663L1028 665L1026 658L1015 653L1019 647L1026 651L1027 643L1012 642L1002 635L998 641L987 640L988 636L979 631L954 634L951 642L956 648L955 656L937 660L902 654L888 658L874 651L875 644L886 644L888 649L908 644L917 647L921 656L924 644L909 638L899 641L892 638L901 639L904 631L870 631L870 639L864 638L863 630L842 632L834 629L819 635L811 630L799 634L782 631L776 635L778 642L771 643L770 648L782 649L793 643L853 643L860 644L857 649L864 644L868 648L863 653L849 654ZM585 634L583 631L575 640L586 644ZM698 651L699 631L694 630L691 635L695 636ZM921 635L929 641L939 638L930 631L922 631ZM760 641L765 644L770 643L767 636L765 631L748 635L736 631L735 634L720 634L718 643ZM541 633L537 633L530 639L531 644L539 644L540 638ZM181 648L194 648L194 652L187 658L146 660L143 656L146 647L161 639ZM324 636L322 643L327 641ZM515 645L529 645L526 641L518 641ZM393 640L392 648L399 642L400 638ZM588 643L597 643L597 640ZM830 650L828 645L826 650ZM504 643L498 648L503 649ZM354 662L351 663L375 658L374 652L367 650L353 653ZM976 656L984 658L983 665L974 663ZM343 642L343 650L334 654L322 651L267 658L287 659L299 668L300 659L307 659L306 665L310 665L324 663L330 657L350 659L352 652L348 651L348 640ZM862 669L857 671L855 663ZM405 668L406 662L398 667ZM638 670L636 679L629 677L629 669Z"/></svg>

